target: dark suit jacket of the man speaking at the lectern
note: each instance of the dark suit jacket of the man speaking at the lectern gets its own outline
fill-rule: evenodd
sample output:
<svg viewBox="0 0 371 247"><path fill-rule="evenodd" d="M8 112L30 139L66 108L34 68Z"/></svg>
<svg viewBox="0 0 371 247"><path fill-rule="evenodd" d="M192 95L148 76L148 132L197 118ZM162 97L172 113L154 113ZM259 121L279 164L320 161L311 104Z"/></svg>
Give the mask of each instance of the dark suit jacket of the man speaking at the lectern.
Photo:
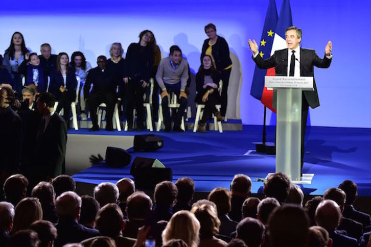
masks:
<svg viewBox="0 0 371 247"><path fill-rule="evenodd" d="M275 67L276 76L287 76L287 57L288 48L284 50L275 51L274 54L263 60L261 56L257 56L253 60L259 68L267 69ZM300 48L300 76L302 77L314 77L314 66L318 68L330 67L332 59L328 59L326 56L320 59L314 50ZM319 99L317 93L317 86L315 80L313 80L313 91L303 91L303 94L311 108L319 106Z"/></svg>

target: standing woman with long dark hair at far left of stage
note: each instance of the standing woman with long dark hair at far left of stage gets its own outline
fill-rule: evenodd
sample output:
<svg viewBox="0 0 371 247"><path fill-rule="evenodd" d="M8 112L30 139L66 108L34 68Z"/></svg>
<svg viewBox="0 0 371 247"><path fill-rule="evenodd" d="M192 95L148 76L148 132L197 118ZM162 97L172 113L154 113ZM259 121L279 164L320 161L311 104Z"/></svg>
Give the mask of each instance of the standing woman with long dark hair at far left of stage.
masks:
<svg viewBox="0 0 371 247"><path fill-rule="evenodd" d="M25 44L23 35L15 32L10 40L10 45L5 50L3 64L8 69L11 78L13 79L13 89L20 95L22 90L22 80L18 67L25 60L26 54L30 53Z"/></svg>

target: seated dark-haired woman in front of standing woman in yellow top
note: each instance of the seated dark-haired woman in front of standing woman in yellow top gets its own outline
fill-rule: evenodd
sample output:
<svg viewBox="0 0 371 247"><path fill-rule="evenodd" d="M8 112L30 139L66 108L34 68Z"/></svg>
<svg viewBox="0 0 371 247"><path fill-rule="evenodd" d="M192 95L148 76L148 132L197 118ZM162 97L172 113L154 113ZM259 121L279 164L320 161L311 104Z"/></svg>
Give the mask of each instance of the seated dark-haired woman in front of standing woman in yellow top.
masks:
<svg viewBox="0 0 371 247"><path fill-rule="evenodd" d="M222 120L220 112L215 107L220 100L218 91L219 81L220 73L213 67L212 58L209 55L203 56L202 64L196 74L197 95L195 102L205 105L202 118L198 124L198 132L206 132L205 122L210 116L210 113L214 113L218 121Z"/></svg>

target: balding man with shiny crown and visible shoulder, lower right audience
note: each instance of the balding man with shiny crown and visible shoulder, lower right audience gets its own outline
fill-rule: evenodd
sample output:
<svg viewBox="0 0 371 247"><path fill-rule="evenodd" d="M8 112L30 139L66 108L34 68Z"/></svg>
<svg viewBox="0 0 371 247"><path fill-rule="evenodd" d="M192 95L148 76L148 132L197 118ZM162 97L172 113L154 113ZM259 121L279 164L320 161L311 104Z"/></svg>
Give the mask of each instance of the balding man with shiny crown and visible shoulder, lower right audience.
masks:
<svg viewBox="0 0 371 247"><path fill-rule="evenodd" d="M334 201L323 200L319 203L314 218L318 226L323 227L329 232L334 246L358 246L357 239L343 235L336 230L341 221L341 210L339 205Z"/></svg>

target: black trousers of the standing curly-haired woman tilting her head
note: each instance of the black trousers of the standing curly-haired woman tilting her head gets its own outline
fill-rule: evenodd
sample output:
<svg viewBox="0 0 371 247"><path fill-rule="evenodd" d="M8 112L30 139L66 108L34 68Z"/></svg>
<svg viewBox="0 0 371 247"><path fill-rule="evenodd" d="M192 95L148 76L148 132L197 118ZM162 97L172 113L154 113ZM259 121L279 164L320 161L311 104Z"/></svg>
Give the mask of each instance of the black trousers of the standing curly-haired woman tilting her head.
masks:
<svg viewBox="0 0 371 247"><path fill-rule="evenodd" d="M143 96L146 88L142 87L142 82L139 80L130 80L127 84L127 105L126 105L126 119L128 126L132 127L133 124L133 110L136 110L136 126L143 128L144 108Z"/></svg>

